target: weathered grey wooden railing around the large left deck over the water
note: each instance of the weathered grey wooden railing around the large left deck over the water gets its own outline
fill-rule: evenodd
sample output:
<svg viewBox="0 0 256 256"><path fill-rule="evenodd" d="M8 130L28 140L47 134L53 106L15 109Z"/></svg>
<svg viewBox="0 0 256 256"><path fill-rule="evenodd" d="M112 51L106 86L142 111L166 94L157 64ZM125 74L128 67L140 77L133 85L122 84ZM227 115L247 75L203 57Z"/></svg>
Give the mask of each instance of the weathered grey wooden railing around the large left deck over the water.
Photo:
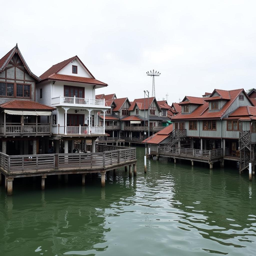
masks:
<svg viewBox="0 0 256 256"><path fill-rule="evenodd" d="M104 146L104 147L102 147ZM136 160L136 148L97 145L97 153L8 156L0 153L0 167L7 173L107 168ZM109 151L110 150L110 151Z"/></svg>

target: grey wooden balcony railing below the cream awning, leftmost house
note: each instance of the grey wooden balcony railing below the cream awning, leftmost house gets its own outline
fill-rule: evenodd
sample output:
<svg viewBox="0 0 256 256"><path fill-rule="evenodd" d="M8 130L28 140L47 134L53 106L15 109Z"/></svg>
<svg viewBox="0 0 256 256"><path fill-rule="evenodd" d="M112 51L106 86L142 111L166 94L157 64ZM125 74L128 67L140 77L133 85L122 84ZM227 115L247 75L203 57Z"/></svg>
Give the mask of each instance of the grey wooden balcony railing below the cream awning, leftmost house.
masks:
<svg viewBox="0 0 256 256"><path fill-rule="evenodd" d="M0 124L0 134L15 135L15 134L50 134L50 124L43 123L6 123Z"/></svg>

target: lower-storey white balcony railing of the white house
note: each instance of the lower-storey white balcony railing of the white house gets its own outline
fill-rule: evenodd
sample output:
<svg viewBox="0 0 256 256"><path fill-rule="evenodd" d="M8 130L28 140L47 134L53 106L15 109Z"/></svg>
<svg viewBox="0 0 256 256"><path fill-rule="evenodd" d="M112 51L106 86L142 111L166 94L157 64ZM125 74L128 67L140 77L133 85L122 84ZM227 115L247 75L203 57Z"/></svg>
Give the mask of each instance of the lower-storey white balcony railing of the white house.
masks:
<svg viewBox="0 0 256 256"><path fill-rule="evenodd" d="M52 134L57 135L104 135L104 126L52 126Z"/></svg>

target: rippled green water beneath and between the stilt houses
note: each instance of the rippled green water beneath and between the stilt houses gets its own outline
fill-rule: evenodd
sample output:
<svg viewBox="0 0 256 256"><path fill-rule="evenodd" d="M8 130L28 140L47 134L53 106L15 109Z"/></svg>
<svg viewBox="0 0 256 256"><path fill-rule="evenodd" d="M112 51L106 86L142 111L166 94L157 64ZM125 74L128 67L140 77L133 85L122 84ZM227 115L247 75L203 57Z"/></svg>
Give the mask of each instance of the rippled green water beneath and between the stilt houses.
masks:
<svg viewBox="0 0 256 256"><path fill-rule="evenodd" d="M256 255L256 180L167 158L147 160L137 147L137 178L124 168L106 187L47 177L0 189L0 255ZM78 180L79 179L79 180Z"/></svg>

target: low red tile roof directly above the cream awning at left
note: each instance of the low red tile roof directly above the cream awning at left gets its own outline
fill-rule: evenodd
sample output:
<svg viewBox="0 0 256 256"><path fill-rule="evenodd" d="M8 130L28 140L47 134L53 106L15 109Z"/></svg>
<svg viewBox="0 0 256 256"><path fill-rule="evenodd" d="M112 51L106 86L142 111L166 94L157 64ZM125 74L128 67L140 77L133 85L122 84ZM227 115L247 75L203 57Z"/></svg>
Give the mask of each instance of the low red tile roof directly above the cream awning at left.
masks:
<svg viewBox="0 0 256 256"><path fill-rule="evenodd" d="M2 109L23 109L23 110L55 110L55 108L39 104L31 100L11 100L0 105Z"/></svg>

